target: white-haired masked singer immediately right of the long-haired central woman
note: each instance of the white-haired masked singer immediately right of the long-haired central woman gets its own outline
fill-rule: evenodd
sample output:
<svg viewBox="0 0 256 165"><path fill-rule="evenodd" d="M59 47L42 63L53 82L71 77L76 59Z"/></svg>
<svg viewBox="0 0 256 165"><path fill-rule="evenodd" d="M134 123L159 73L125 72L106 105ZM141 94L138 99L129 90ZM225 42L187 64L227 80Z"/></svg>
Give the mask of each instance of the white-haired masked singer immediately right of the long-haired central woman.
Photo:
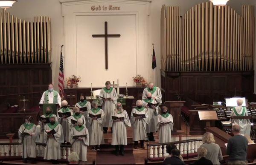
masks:
<svg viewBox="0 0 256 165"><path fill-rule="evenodd" d="M140 140L140 147L144 147L144 140L147 139L146 127L148 124L148 110L143 107L142 100L136 101L136 108L131 111L131 125L133 127L134 148L138 148L138 141Z"/></svg>

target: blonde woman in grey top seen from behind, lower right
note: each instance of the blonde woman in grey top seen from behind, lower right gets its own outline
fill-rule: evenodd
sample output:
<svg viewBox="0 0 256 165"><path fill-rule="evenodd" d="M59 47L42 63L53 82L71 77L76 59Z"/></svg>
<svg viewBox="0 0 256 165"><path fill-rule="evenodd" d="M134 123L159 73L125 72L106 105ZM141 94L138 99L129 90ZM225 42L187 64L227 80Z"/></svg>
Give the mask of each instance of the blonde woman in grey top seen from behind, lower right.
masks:
<svg viewBox="0 0 256 165"><path fill-rule="evenodd" d="M214 143L215 139L212 133L206 132L203 135L203 143L200 147L204 147L207 149L206 159L209 159L214 165L221 164L222 153L221 148L218 144Z"/></svg>

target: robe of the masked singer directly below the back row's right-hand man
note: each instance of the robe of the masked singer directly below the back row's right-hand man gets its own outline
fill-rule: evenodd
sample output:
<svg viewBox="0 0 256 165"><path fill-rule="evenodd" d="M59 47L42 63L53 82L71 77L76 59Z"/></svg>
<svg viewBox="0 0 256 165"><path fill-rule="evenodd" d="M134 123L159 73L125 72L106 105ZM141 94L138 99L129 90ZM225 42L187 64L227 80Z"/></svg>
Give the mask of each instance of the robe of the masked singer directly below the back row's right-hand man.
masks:
<svg viewBox="0 0 256 165"><path fill-rule="evenodd" d="M157 104L157 101L154 99L148 100L148 99L144 99L143 100L143 106L148 105L148 102L151 102L152 104ZM151 132L156 132L157 131L157 115L158 115L158 111L159 108L158 106L156 108L147 108L148 110L148 125L147 125L147 133L151 133Z"/></svg>

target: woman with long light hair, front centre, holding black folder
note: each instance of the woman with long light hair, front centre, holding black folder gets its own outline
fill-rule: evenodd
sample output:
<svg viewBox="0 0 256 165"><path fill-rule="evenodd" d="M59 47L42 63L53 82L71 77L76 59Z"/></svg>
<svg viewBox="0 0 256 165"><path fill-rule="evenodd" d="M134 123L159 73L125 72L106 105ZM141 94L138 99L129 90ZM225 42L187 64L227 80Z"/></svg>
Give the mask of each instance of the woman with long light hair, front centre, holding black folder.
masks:
<svg viewBox="0 0 256 165"><path fill-rule="evenodd" d="M124 117L124 120L113 120L112 117ZM116 109L112 112L110 124L113 130L111 145L115 145L116 155L120 154L124 156L124 145L127 145L126 127L131 127L131 122L127 112L123 110L120 102L116 103Z"/></svg>

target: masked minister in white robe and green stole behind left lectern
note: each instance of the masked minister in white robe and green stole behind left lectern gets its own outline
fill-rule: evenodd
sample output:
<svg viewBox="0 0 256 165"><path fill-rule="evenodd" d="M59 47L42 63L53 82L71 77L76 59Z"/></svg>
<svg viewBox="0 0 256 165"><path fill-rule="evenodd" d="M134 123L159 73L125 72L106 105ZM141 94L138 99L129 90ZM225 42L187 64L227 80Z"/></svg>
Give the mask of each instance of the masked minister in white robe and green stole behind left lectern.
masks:
<svg viewBox="0 0 256 165"><path fill-rule="evenodd" d="M53 84L48 85L48 90L44 91L39 104L59 104L61 107L61 96L53 89Z"/></svg>

